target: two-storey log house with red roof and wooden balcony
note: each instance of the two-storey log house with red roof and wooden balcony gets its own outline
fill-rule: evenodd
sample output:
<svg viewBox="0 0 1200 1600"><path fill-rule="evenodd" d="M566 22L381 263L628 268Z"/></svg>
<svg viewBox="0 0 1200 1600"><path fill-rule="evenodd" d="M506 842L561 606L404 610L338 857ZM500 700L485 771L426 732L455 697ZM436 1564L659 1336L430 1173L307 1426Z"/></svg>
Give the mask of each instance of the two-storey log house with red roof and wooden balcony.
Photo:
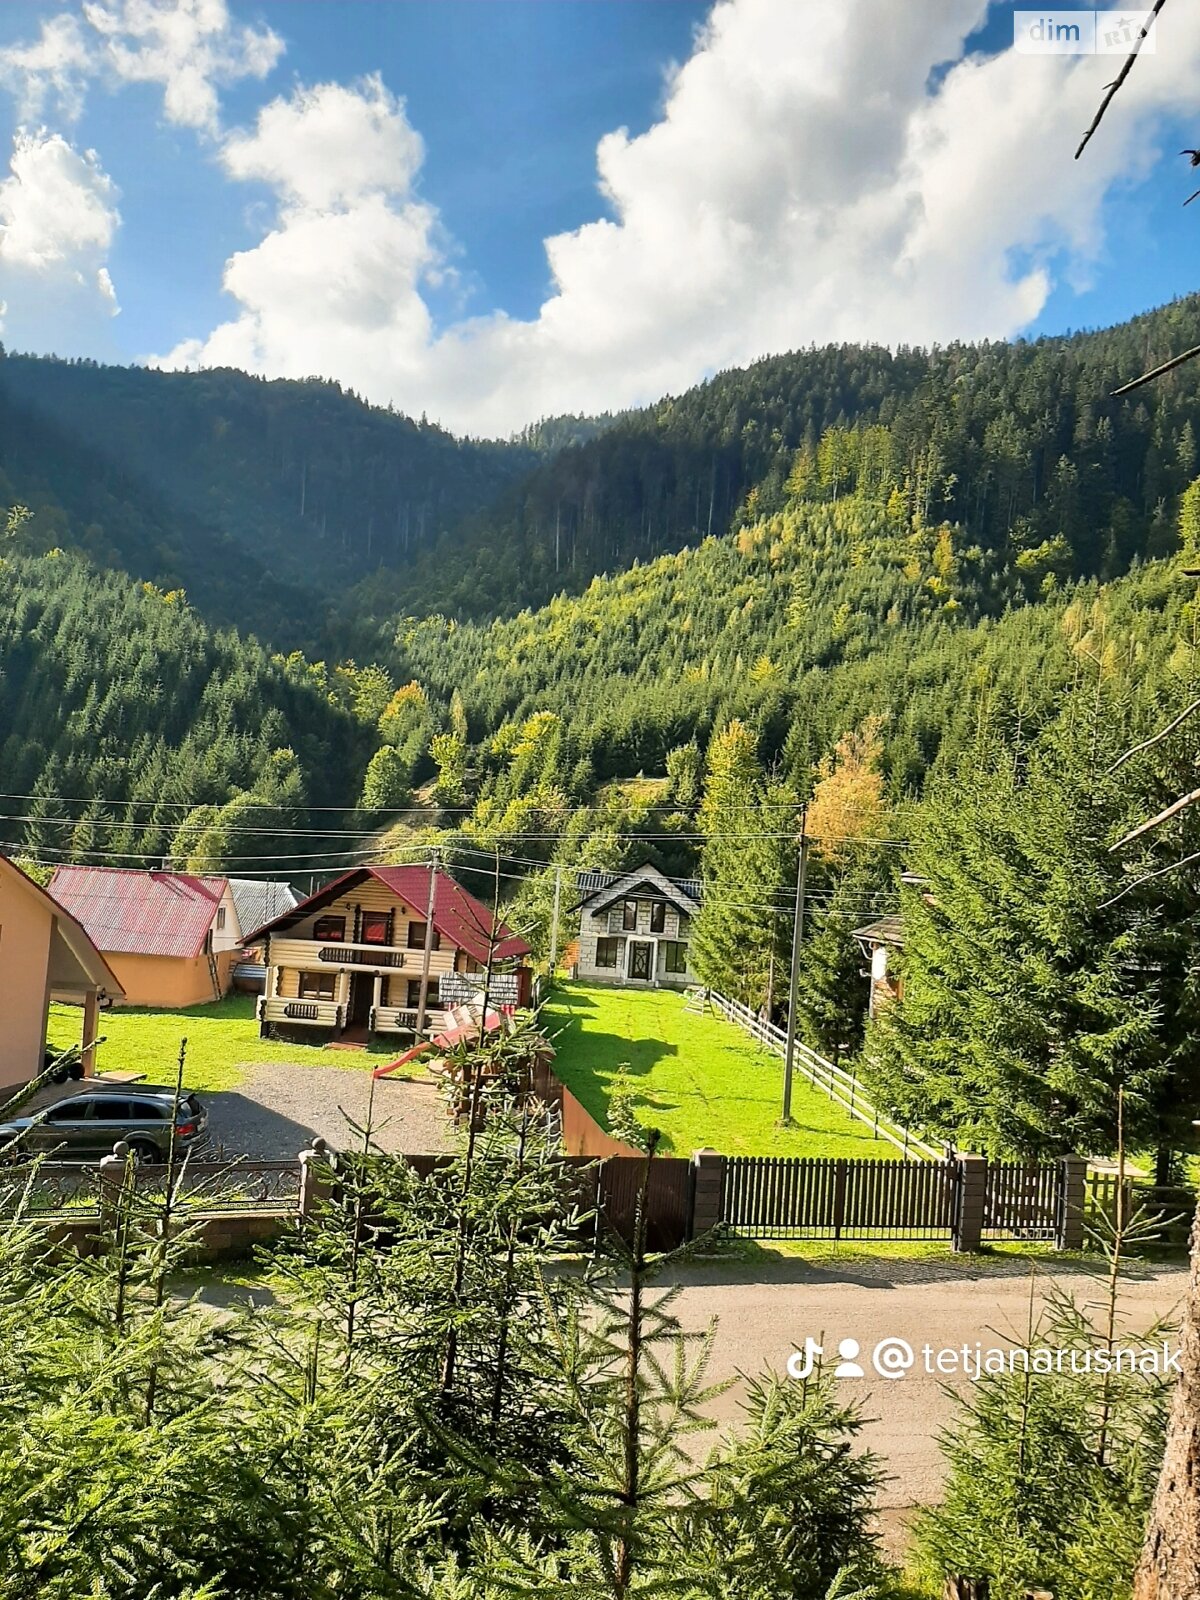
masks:
<svg viewBox="0 0 1200 1600"><path fill-rule="evenodd" d="M432 918L429 915L432 899ZM259 1030L366 1043L453 1026L483 992L491 912L430 867L355 867L246 936L264 946ZM528 1005L530 946L502 923L496 1005Z"/></svg>

